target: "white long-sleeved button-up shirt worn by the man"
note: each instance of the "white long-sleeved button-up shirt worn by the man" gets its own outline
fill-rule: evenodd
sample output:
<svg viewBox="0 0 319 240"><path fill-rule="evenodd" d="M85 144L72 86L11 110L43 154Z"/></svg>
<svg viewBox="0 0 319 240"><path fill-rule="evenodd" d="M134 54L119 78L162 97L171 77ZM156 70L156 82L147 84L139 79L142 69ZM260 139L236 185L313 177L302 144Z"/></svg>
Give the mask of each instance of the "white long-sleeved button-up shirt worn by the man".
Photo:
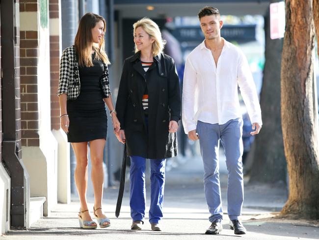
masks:
<svg viewBox="0 0 319 240"><path fill-rule="evenodd" d="M217 66L205 40L187 57L183 84L185 133L196 129L197 120L224 124L241 118L238 86L251 122L262 124L256 86L248 61L234 44L224 40Z"/></svg>

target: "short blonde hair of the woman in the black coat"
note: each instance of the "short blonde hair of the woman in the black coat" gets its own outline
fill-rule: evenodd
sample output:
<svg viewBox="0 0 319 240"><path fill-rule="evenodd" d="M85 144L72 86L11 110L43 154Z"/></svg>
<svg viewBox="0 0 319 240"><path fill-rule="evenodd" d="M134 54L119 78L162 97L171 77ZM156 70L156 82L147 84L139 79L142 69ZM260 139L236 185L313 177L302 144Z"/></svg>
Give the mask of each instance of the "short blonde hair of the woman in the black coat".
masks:
<svg viewBox="0 0 319 240"><path fill-rule="evenodd" d="M152 44L153 56L157 56L162 53L166 44L166 40L162 39L159 26L150 18L142 18L133 24L133 34L135 34L135 31L138 27L141 27L144 31L146 31L149 37L154 39ZM138 50L135 45L135 53L137 52Z"/></svg>

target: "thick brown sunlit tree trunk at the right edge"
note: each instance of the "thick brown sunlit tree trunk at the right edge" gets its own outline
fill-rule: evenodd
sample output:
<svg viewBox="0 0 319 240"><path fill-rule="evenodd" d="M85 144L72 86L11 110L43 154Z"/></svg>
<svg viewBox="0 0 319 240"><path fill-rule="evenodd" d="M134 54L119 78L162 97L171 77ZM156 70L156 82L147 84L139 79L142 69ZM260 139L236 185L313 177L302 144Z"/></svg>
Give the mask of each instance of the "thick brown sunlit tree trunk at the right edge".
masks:
<svg viewBox="0 0 319 240"><path fill-rule="evenodd" d="M282 214L308 219L319 219L314 33L312 1L286 0L281 117L290 194Z"/></svg>

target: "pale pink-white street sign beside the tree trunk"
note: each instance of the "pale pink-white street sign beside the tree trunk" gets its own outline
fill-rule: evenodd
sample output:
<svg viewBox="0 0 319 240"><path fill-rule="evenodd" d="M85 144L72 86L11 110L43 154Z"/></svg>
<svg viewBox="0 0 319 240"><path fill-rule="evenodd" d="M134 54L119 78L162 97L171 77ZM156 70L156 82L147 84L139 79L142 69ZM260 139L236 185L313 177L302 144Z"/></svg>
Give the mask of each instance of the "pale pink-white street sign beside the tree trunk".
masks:
<svg viewBox="0 0 319 240"><path fill-rule="evenodd" d="M285 34L285 2L270 3L270 38L277 39Z"/></svg>

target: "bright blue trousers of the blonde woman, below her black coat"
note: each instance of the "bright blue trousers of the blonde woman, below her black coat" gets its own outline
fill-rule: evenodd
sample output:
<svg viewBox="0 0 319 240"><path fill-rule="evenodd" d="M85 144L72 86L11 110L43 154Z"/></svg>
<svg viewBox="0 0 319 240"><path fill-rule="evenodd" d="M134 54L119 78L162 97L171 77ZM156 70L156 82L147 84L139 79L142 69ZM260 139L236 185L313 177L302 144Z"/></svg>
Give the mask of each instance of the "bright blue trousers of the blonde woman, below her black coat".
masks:
<svg viewBox="0 0 319 240"><path fill-rule="evenodd" d="M145 164L146 159L140 156L130 156L130 207L133 221L145 219ZM151 163L151 206L149 210L150 223L159 223L163 217L165 163L166 159L150 159Z"/></svg>

